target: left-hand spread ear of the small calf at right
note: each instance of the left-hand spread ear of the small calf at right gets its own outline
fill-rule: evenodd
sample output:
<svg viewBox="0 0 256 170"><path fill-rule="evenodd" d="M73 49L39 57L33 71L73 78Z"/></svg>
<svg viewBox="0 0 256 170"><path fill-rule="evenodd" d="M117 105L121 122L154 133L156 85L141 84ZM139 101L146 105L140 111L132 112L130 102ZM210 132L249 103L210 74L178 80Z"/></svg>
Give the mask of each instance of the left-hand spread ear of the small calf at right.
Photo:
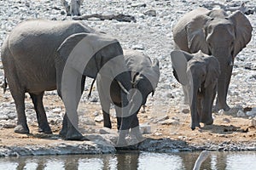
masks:
<svg viewBox="0 0 256 170"><path fill-rule="evenodd" d="M175 50L171 53L173 76L183 85L189 83L187 77L187 64L193 58L192 54L188 54L181 50Z"/></svg>

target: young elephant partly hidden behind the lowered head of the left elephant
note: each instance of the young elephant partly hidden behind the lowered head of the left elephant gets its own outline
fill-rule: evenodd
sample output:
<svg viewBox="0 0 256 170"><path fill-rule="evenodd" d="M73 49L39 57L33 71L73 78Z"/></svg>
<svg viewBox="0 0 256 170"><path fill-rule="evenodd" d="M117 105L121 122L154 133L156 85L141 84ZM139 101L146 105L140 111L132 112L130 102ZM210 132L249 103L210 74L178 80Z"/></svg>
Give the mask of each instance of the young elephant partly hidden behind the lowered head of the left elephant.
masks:
<svg viewBox="0 0 256 170"><path fill-rule="evenodd" d="M129 120L129 123L125 125L125 129L131 128L131 133L134 134L137 139L141 139L141 134L139 133L139 121L137 118L137 113L142 105L146 104L148 95L152 93L154 95L155 88L159 82L160 78L160 65L159 60L151 59L136 50L124 50L125 65L128 67L128 71L131 73L131 82L133 88L136 88L141 94L141 99L137 99L137 110L131 116L124 117L121 115L120 105L122 100L120 98L120 89L118 82L113 82L110 88L110 94L106 93L104 87L104 77L97 77L96 85L99 92L99 97L101 99L104 127L111 128L111 121L109 116L110 104L115 105L115 111L117 114L118 129L121 127L123 120ZM102 102L103 101L103 102ZM127 132L126 132L127 134Z"/></svg>

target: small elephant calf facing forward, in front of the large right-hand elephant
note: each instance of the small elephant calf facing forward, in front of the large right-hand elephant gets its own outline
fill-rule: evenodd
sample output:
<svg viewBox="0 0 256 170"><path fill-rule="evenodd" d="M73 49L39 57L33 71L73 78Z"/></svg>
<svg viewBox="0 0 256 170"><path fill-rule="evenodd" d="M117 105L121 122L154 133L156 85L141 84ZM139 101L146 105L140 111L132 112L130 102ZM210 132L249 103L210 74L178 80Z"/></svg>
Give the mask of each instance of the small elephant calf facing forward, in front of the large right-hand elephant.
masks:
<svg viewBox="0 0 256 170"><path fill-rule="evenodd" d="M188 54L178 50L172 51L171 58L173 75L183 85L190 105L191 129L200 127L200 122L212 124L212 104L220 75L218 59L201 51Z"/></svg>

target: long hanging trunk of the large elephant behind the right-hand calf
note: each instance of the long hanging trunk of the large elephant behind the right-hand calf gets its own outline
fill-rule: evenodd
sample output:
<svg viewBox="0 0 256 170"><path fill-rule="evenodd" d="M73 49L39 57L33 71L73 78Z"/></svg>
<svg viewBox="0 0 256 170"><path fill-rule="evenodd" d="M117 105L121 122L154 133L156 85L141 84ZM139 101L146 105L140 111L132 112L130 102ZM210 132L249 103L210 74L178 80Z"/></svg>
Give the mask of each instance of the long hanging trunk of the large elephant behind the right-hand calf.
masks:
<svg viewBox="0 0 256 170"><path fill-rule="evenodd" d="M229 111L230 107L227 105L226 99L233 69L233 57L230 52L227 52L227 48L221 48L215 51L216 53L213 53L213 56L218 59L221 71L218 77L218 98L216 105L218 110L224 109L224 111Z"/></svg>

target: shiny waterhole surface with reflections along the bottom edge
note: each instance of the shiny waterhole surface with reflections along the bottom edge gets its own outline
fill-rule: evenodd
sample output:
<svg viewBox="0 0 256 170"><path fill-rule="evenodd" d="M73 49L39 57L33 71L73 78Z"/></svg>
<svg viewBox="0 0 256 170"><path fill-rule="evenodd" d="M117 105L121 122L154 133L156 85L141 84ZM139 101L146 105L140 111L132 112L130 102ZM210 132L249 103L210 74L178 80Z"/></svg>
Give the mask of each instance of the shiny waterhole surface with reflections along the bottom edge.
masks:
<svg viewBox="0 0 256 170"><path fill-rule="evenodd" d="M20 156L0 158L0 169L4 170L172 170L193 169L199 152L151 153L131 151L109 155L77 156ZM212 152L201 169L256 169L256 152Z"/></svg>

